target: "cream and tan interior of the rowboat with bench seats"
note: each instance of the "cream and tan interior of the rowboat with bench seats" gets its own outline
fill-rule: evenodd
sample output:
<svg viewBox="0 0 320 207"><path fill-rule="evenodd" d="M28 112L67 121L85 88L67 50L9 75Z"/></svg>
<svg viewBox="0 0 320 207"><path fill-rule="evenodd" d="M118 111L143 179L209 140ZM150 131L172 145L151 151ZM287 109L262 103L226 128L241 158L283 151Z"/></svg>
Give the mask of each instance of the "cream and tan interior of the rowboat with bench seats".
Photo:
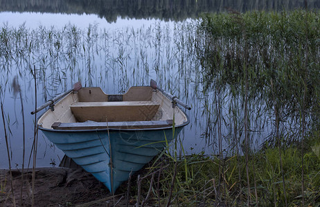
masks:
<svg viewBox="0 0 320 207"><path fill-rule="evenodd" d="M107 95L101 88L70 92L38 120L42 128L88 130L99 128L163 128L186 123L187 117L159 90L130 88L123 95Z"/></svg>

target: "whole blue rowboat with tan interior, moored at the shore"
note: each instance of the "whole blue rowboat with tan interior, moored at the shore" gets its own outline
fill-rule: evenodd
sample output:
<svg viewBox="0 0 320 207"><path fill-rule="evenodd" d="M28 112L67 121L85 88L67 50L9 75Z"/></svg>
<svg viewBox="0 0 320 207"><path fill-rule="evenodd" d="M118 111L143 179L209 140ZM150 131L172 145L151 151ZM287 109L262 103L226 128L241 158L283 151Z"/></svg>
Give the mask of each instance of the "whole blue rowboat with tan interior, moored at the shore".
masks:
<svg viewBox="0 0 320 207"><path fill-rule="evenodd" d="M189 123L175 106L181 101L157 88L153 80L150 86L132 87L123 95L106 95L100 88L82 88L78 83L58 98L55 105L55 100L46 103L51 109L39 117L39 129L112 193Z"/></svg>

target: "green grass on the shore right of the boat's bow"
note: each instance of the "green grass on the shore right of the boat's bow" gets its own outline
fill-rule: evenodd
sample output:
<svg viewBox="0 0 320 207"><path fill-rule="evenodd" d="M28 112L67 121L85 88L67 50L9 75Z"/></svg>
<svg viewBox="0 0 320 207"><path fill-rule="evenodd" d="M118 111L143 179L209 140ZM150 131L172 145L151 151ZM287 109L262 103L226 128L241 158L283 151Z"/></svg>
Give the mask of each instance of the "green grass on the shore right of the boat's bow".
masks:
<svg viewBox="0 0 320 207"><path fill-rule="evenodd" d="M292 145L281 150L288 206L301 204L302 154L299 147ZM252 180L256 177L256 187L251 187L251 205L285 206L278 152L276 147L266 147L250 156L249 176ZM305 204L317 206L320 204L320 159L312 148L305 149L303 156L305 157ZM159 183L157 179L152 183L152 194L148 204L166 206L168 192L172 190L170 201L172 206L247 206L244 156L225 157L223 160L220 157L202 154L179 159L167 157L154 164L150 172L145 173L152 174L164 164L166 168L161 170ZM224 173L219 173L220 168ZM175 171L176 173L173 173ZM141 197L146 195L148 188L150 180L144 181ZM137 193L136 190L133 191L132 195Z"/></svg>

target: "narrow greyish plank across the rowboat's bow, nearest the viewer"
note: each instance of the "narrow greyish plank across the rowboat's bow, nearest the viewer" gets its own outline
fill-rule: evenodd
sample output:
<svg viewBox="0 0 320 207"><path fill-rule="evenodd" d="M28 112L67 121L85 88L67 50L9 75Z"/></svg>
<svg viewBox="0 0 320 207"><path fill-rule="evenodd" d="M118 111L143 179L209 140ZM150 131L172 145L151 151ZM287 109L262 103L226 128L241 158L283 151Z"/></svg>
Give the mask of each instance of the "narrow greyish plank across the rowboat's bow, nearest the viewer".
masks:
<svg viewBox="0 0 320 207"><path fill-rule="evenodd" d="M96 122L85 121L75 123L55 122L51 126L56 130L89 130L89 129L139 129L139 128L161 128L172 126L172 120L166 121L114 121L114 122Z"/></svg>

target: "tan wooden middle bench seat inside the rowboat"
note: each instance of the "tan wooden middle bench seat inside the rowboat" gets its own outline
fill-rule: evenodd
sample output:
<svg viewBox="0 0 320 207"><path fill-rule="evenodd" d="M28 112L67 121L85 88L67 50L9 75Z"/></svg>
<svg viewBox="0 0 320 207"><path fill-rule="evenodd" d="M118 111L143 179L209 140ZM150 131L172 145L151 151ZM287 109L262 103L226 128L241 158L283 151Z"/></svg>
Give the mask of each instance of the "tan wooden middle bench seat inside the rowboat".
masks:
<svg viewBox="0 0 320 207"><path fill-rule="evenodd" d="M155 101L75 102L70 108L79 122L150 121L160 104Z"/></svg>

